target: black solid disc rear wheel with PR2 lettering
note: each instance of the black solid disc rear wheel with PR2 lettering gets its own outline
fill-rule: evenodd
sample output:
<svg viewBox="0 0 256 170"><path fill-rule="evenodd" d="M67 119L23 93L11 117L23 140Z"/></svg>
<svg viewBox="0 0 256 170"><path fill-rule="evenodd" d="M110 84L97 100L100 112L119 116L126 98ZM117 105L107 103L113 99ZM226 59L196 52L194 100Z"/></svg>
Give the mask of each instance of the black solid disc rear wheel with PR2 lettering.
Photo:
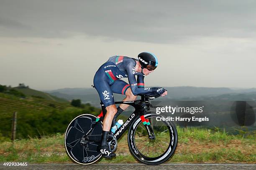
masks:
<svg viewBox="0 0 256 170"><path fill-rule="evenodd" d="M65 133L65 148L69 158L75 163L82 165L90 165L97 162L102 157L100 152L97 152L97 143L88 142L86 145L79 143L82 135L85 135L92 125L96 123L96 116L91 114L83 114L75 117L68 125ZM101 140L102 122L98 122L90 135ZM85 151L85 152L84 152Z"/></svg>

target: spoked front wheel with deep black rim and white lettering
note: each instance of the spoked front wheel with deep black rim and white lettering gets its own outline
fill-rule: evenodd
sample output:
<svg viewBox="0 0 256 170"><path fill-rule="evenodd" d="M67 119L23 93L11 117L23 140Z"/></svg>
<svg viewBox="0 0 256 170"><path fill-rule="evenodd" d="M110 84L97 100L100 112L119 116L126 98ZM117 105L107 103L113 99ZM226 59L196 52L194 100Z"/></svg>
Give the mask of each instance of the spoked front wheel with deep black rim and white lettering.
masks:
<svg viewBox="0 0 256 170"><path fill-rule="evenodd" d="M165 121L163 115L144 115L150 122L155 138L149 138L141 118L135 119L128 132L128 145L133 156L141 163L158 165L172 157L178 143L177 129L173 122Z"/></svg>

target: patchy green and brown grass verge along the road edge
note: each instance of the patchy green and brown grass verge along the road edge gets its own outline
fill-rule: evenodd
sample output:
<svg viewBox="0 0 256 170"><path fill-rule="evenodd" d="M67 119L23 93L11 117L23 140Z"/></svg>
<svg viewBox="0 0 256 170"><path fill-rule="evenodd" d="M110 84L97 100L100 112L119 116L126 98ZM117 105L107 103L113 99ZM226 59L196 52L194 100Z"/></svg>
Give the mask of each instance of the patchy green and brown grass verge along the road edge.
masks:
<svg viewBox="0 0 256 170"><path fill-rule="evenodd" d="M176 153L169 163L256 163L256 135L205 128L179 128ZM118 140L116 158L98 163L138 163L127 145L127 132ZM72 163L64 147L64 134L0 143L0 162Z"/></svg>

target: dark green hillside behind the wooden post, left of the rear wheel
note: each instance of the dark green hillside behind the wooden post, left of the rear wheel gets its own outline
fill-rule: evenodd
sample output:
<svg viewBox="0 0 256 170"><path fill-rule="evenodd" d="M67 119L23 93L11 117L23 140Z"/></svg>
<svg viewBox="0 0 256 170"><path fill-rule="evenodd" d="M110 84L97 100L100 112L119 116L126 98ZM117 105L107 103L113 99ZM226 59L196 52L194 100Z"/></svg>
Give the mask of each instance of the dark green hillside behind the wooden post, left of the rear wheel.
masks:
<svg viewBox="0 0 256 170"><path fill-rule="evenodd" d="M18 112L17 138L27 138L64 133L74 117L85 112L97 114L100 111L90 105L78 108L69 102L0 93L0 140L10 138L13 112Z"/></svg>

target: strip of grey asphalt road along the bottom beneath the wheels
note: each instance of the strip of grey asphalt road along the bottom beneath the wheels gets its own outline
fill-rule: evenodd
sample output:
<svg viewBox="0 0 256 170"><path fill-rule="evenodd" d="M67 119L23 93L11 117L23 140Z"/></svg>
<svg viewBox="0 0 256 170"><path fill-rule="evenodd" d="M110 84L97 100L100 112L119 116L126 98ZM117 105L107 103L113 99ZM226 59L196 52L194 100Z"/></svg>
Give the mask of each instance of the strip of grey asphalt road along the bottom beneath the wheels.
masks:
<svg viewBox="0 0 256 170"><path fill-rule="evenodd" d="M93 164L78 165L70 163L28 164L21 166L3 166L0 170L255 170L256 164Z"/></svg>

